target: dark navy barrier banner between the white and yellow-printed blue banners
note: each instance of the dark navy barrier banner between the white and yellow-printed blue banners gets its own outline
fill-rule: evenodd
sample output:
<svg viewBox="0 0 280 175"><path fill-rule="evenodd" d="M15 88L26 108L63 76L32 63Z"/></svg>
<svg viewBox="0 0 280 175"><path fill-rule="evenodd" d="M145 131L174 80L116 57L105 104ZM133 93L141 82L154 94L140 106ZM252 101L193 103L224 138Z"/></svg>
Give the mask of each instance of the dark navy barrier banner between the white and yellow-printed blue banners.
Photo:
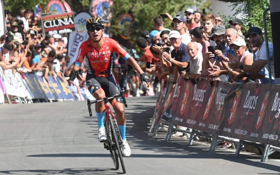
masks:
<svg viewBox="0 0 280 175"><path fill-rule="evenodd" d="M36 99L48 98L35 74L24 73L24 78L26 80L26 85L32 91Z"/></svg>

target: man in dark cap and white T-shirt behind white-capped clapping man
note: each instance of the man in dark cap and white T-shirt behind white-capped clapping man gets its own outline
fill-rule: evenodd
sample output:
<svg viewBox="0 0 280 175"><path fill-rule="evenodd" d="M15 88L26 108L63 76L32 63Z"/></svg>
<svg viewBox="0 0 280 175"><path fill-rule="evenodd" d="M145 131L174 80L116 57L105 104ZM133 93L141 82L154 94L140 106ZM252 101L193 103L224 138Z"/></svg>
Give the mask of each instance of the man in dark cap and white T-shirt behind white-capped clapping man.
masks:
<svg viewBox="0 0 280 175"><path fill-rule="evenodd" d="M184 23L184 18L181 16L177 16L177 17L173 18L172 21L174 22L174 30L178 31L181 34L180 38L182 40L182 43L184 43L185 45L190 43L191 38L185 31L186 25Z"/></svg>

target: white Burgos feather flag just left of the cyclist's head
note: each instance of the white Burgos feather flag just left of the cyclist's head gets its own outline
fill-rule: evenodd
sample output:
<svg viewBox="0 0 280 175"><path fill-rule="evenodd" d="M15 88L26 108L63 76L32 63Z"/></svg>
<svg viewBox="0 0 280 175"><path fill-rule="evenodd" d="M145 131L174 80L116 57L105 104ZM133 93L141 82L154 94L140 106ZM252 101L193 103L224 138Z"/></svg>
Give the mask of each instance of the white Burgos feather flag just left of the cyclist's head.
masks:
<svg viewBox="0 0 280 175"><path fill-rule="evenodd" d="M89 18L91 15L87 12L80 12L74 18L76 32L70 32L68 37L68 55L70 57L68 67L75 62L81 43L89 38L86 29L86 22Z"/></svg>

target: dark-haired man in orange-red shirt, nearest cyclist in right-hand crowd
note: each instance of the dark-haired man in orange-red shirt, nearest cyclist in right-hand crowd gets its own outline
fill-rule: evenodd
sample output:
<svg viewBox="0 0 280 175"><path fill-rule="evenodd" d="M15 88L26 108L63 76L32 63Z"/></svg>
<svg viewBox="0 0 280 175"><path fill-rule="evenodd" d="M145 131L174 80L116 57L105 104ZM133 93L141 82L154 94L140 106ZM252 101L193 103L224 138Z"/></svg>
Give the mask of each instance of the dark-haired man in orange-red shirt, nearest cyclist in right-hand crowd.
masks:
<svg viewBox="0 0 280 175"><path fill-rule="evenodd" d="M137 46L138 48L144 53L144 61L150 62L151 64L158 63L159 59L155 58L153 54L151 53L150 47L148 45L148 42L145 38L139 37L137 38Z"/></svg>

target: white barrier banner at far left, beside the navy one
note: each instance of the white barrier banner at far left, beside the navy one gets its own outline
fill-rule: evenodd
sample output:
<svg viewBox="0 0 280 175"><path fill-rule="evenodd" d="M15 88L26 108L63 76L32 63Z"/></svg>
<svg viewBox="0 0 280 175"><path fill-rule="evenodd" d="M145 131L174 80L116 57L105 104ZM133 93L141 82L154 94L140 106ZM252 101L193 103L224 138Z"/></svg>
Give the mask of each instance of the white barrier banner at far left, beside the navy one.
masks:
<svg viewBox="0 0 280 175"><path fill-rule="evenodd" d="M22 98L27 97L27 89L22 83L20 83L21 77L18 77L18 73L14 75L11 69L7 69L4 71L5 74L3 74L3 70L0 67L0 77L2 78L5 85L6 93Z"/></svg>

